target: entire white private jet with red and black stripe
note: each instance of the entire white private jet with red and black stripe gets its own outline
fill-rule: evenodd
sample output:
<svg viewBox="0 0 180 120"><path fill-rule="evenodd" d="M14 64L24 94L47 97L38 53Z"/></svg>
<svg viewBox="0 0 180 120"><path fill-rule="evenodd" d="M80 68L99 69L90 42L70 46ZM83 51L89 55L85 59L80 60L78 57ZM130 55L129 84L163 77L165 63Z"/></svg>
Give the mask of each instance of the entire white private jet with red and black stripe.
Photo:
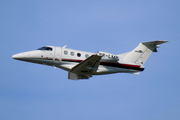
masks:
<svg viewBox="0 0 180 120"><path fill-rule="evenodd" d="M152 52L157 52L160 44L168 41L157 40L142 42L130 52L114 55L98 51L97 53L79 51L64 47L44 46L37 50L12 56L13 59L49 65L68 72L68 79L89 79L93 75L112 73L139 74Z"/></svg>

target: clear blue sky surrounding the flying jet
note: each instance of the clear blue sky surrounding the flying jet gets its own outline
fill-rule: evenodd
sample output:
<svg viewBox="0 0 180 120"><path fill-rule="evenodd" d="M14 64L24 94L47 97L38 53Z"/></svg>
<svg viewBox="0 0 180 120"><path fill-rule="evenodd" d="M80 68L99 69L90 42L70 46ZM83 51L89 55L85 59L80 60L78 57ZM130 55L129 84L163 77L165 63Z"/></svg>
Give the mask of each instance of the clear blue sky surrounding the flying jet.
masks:
<svg viewBox="0 0 180 120"><path fill-rule="evenodd" d="M1 0L1 120L179 120L180 1ZM167 40L140 75L73 81L12 59L44 45L121 54Z"/></svg>

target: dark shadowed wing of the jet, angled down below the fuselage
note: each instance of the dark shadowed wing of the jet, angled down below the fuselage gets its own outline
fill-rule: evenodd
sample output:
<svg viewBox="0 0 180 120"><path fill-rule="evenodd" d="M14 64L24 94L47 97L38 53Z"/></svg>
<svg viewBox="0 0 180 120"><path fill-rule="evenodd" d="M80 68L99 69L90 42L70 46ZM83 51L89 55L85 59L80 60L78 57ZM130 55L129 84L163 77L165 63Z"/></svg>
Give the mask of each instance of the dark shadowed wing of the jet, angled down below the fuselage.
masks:
<svg viewBox="0 0 180 120"><path fill-rule="evenodd" d="M102 56L91 55L81 63L74 66L68 73L68 79L88 79L97 71Z"/></svg>

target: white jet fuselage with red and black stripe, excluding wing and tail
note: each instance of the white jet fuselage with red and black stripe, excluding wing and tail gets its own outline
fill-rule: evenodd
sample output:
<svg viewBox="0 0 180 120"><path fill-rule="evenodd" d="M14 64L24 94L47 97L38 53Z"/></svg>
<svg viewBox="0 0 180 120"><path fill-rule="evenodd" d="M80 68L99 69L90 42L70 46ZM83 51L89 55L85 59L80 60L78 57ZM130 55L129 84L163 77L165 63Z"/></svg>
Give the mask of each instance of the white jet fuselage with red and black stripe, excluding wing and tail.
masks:
<svg viewBox="0 0 180 120"><path fill-rule="evenodd" d="M70 71L71 68L87 59L93 54L99 54L102 57L98 70L94 75L111 73L138 73L144 70L140 65L121 62L118 55L112 55L106 52L91 53L79 50L73 50L62 47L45 46L38 50L15 54L12 57L17 60L33 62L38 64L50 65Z"/></svg>

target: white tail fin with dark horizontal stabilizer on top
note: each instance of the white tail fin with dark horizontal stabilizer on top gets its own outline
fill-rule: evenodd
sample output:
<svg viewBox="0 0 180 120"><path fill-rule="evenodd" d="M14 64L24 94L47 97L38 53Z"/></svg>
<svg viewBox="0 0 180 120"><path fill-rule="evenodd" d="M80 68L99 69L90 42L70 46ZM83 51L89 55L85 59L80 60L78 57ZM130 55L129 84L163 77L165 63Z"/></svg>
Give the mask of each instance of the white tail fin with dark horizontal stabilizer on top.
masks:
<svg viewBox="0 0 180 120"><path fill-rule="evenodd" d="M157 52L156 48L159 47L159 44L165 42L167 41L158 40L140 43L139 46L129 52L123 60L136 64L144 64L152 52Z"/></svg>

